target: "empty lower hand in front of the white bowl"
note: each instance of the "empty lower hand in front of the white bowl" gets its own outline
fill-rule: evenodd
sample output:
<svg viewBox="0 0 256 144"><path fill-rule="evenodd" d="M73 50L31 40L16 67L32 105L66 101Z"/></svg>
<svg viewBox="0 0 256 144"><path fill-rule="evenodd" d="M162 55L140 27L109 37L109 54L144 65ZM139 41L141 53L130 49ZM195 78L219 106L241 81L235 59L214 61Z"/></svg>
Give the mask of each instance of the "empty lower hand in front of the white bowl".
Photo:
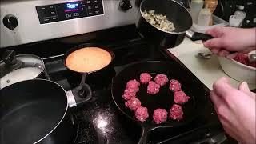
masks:
<svg viewBox="0 0 256 144"><path fill-rule="evenodd" d="M220 78L214 82L210 98L226 133L238 142L255 143L256 96L246 82L235 89L227 78Z"/></svg>

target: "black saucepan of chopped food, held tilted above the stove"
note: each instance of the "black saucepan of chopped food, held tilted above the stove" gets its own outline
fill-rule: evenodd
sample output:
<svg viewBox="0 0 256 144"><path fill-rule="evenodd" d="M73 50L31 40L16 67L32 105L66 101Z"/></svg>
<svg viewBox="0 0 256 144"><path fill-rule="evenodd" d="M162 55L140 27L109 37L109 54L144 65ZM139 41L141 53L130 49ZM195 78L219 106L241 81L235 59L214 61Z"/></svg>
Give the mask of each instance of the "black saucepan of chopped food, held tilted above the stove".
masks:
<svg viewBox="0 0 256 144"><path fill-rule="evenodd" d="M148 42L164 48L178 46L185 36L191 40L208 40L208 34L190 30L190 13L173 0L144 0L136 22L139 34Z"/></svg>

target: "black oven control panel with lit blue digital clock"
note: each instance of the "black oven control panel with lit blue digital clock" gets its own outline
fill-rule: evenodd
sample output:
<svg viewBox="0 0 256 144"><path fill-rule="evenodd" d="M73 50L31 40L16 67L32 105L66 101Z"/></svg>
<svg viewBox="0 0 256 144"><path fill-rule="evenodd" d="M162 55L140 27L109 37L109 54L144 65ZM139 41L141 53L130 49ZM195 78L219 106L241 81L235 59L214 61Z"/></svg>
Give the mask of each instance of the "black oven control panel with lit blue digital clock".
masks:
<svg viewBox="0 0 256 144"><path fill-rule="evenodd" d="M36 10L40 24L104 14L102 0L85 0L36 6Z"/></svg>

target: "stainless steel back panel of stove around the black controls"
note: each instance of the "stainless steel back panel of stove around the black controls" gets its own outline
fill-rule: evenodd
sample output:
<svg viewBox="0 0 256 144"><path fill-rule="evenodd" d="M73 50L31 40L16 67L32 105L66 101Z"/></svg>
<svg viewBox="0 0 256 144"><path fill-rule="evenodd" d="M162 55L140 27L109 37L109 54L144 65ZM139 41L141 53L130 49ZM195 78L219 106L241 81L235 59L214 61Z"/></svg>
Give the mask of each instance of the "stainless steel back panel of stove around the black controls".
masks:
<svg viewBox="0 0 256 144"><path fill-rule="evenodd" d="M125 26L134 24L137 18L138 7L134 4L135 0L131 0L133 8L126 12L119 9L119 0L103 0L104 15L40 24L35 6L75 1L78 0L1 1L0 48ZM18 18L18 26L14 30L9 30L2 24L2 19L7 14Z"/></svg>

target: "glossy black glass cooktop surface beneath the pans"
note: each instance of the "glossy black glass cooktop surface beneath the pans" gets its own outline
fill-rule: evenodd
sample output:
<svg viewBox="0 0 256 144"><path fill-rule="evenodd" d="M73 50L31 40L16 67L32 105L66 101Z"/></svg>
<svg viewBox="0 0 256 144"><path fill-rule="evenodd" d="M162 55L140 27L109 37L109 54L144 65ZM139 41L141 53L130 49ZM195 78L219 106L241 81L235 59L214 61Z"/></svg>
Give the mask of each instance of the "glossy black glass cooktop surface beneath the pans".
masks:
<svg viewBox="0 0 256 144"><path fill-rule="evenodd" d="M59 38L24 46L14 46L18 54L37 54L44 58L46 71L51 81L58 82L65 90L71 90L79 79L71 77L63 66L63 54L73 46L86 42L99 43L114 51L113 67L109 73L86 78L93 90L93 97L82 106L71 109L78 122L76 144L86 143L138 143L142 129L118 110L111 98L111 82L126 66L133 62L166 59L177 61L166 50L160 50L139 37L134 26L102 30L94 34ZM88 40L90 39L90 40ZM10 48L6 48L10 49ZM182 66L182 64L181 64ZM191 73L191 78L195 78ZM207 88L204 89L209 93ZM209 98L207 98L209 99ZM148 143L203 143L202 139L222 134L222 127L210 101L199 116L186 126L151 131Z"/></svg>

